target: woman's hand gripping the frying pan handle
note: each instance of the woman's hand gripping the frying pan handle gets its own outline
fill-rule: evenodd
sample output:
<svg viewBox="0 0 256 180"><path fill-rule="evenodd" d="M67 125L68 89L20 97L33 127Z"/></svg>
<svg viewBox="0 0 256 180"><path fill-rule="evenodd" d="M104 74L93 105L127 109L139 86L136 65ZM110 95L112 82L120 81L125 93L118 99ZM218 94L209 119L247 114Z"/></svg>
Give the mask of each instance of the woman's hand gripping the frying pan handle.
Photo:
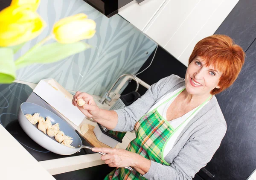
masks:
<svg viewBox="0 0 256 180"><path fill-rule="evenodd" d="M116 148L92 148L94 152L103 152L101 159L105 161L110 167L124 168L134 166L137 160L140 159L139 154L126 151L124 149Z"/></svg>

